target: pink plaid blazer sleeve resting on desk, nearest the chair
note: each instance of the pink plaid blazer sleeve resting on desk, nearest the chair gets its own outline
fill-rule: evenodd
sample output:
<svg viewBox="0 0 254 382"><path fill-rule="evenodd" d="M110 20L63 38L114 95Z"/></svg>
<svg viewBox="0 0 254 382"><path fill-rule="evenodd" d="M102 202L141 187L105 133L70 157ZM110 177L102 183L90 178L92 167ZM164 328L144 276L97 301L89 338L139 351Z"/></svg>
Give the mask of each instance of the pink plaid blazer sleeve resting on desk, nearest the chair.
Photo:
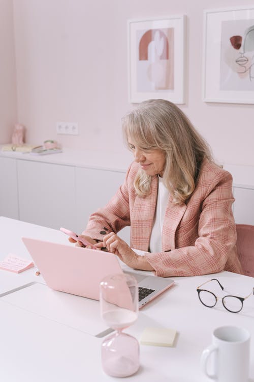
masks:
<svg viewBox="0 0 254 382"><path fill-rule="evenodd" d="M232 176L225 172L201 203L198 237L192 245L170 252L146 253L156 276L198 276L228 269L241 273L232 213ZM226 267L227 268L227 267Z"/></svg>

